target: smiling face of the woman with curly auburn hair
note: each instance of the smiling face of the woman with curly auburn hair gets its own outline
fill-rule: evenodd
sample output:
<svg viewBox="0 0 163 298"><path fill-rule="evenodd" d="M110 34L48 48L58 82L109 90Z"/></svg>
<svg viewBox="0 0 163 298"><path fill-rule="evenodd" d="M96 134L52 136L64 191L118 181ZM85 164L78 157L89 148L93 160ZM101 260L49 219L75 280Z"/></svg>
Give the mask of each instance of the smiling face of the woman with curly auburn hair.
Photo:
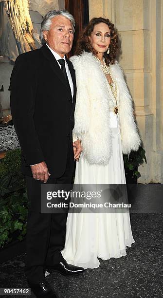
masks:
<svg viewBox="0 0 163 298"><path fill-rule="evenodd" d="M91 40L91 46L98 53L105 53L110 44L110 29L105 23L99 23L94 25L93 32L89 37Z"/></svg>

